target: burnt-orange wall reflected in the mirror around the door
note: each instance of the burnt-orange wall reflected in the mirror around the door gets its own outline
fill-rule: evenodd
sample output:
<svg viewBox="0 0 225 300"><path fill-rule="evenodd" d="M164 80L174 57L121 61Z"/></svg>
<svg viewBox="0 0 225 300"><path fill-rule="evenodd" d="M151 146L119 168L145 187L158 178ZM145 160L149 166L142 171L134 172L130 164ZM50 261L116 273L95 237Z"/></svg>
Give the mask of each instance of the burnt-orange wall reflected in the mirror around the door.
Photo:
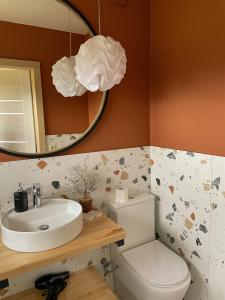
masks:
<svg viewBox="0 0 225 300"><path fill-rule="evenodd" d="M35 60L41 63L46 134L78 133L88 127L87 95L64 98L52 84L52 65L69 55L69 33L0 22L1 58ZM72 53L76 53L84 36L72 35Z"/></svg>

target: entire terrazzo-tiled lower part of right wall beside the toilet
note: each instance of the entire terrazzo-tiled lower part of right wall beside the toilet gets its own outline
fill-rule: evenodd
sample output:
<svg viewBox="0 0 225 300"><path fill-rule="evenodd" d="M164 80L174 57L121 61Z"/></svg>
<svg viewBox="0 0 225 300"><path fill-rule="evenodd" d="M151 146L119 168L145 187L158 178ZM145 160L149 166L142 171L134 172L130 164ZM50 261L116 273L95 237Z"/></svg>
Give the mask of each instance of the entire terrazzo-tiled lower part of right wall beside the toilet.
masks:
<svg viewBox="0 0 225 300"><path fill-rule="evenodd" d="M225 157L151 147L156 230L189 264L185 300L225 299Z"/></svg>

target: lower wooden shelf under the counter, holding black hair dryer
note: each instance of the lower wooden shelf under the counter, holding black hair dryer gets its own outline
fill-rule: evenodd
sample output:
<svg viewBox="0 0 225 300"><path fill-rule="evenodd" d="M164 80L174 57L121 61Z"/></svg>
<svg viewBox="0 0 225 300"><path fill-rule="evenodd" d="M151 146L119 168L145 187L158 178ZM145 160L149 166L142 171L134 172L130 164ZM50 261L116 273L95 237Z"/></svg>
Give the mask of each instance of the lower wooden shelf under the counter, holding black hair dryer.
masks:
<svg viewBox="0 0 225 300"><path fill-rule="evenodd" d="M9 296L5 300L41 300L40 291L35 288ZM75 272L68 280L66 289L58 300L118 300L94 267Z"/></svg>

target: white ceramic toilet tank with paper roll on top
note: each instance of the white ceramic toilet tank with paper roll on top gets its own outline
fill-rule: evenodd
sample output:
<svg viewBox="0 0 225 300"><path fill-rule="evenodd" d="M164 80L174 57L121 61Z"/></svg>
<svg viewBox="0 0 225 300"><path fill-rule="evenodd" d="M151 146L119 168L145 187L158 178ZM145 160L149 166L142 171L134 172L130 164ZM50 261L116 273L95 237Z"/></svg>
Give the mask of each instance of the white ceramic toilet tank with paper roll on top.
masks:
<svg viewBox="0 0 225 300"><path fill-rule="evenodd" d="M124 203L110 201L109 217L126 230L119 252L155 240L155 196L147 192L131 195Z"/></svg>

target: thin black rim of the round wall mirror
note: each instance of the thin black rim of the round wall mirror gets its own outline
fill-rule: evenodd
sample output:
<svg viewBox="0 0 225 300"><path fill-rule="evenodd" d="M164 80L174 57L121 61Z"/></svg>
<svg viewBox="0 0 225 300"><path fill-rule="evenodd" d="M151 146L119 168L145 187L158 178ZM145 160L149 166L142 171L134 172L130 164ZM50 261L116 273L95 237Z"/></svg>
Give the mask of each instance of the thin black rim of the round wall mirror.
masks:
<svg viewBox="0 0 225 300"><path fill-rule="evenodd" d="M73 12L75 14L77 14L78 17L80 17L85 22L85 24L88 27L89 33L92 36L96 35L96 31L94 30L94 28L92 27L90 22L87 20L87 18L83 15L83 13L74 4L72 4L69 0L55 0L55 1L61 2L62 5L66 5L70 9L72 9ZM39 153L35 154L35 153L16 152L13 150L7 150L5 148L0 147L0 153L4 153L7 155L16 156L16 157L23 157L23 158L43 158L43 157L57 156L59 154L64 153L65 151L72 149L74 146L81 143L95 129L95 127L99 123L99 121L105 111L105 108L106 108L106 105L108 102L108 97L109 97L109 91L103 92L101 107L99 109L98 115L96 116L94 122L92 123L92 125L90 127L88 127L88 129L84 132L84 135L81 138L79 138L74 143L71 143L69 146L66 146L65 148L62 148L62 149L59 149L56 151L45 152L45 153L40 153L40 154Z"/></svg>

